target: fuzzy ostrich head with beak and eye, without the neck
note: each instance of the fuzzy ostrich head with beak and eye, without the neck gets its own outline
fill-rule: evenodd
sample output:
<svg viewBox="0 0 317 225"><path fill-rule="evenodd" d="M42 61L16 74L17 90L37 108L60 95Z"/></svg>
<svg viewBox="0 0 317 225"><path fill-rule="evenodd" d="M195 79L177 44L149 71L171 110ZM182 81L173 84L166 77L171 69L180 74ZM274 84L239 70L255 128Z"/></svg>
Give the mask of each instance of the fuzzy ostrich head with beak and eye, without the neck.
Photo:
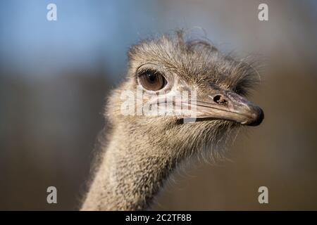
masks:
<svg viewBox="0 0 317 225"><path fill-rule="evenodd" d="M207 41L185 40L182 32L164 35L132 46L128 60L127 77L113 92L106 114L113 124L122 124L127 136L142 140L142 145L169 146L175 158L182 158L201 148L214 148L235 128L256 126L263 120L261 108L246 98L257 80L255 70L223 56ZM127 90L132 98L123 98ZM139 105L137 91L147 95ZM188 94L187 107L195 109L194 116L192 110L175 113L176 98L166 101L167 96L171 99L182 92ZM144 115L144 107L163 107L162 99L172 103L174 113ZM122 112L124 101L133 106L128 115Z"/></svg>

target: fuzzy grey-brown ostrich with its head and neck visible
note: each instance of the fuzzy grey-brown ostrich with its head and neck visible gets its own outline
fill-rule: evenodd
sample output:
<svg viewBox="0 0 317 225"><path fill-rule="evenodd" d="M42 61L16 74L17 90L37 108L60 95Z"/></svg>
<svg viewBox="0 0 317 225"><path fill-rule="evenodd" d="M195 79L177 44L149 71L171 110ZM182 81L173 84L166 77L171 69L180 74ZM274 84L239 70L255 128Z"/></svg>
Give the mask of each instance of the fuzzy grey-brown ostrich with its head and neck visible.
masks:
<svg viewBox="0 0 317 225"><path fill-rule="evenodd" d="M261 123L263 111L245 98L256 80L248 63L220 54L209 41L185 39L181 31L130 47L125 80L108 98L111 129L81 210L151 207L182 161L214 154L211 148L230 131ZM152 96L195 90L196 120L184 122L188 113L123 115L122 92L138 88Z"/></svg>

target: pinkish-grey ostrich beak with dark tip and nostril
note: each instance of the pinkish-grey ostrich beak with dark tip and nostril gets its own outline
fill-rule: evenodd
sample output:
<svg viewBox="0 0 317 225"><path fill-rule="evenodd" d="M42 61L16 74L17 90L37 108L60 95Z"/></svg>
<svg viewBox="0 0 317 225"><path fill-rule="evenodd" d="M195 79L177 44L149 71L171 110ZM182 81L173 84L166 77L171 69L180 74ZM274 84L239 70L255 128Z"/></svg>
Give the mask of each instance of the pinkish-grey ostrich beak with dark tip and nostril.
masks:
<svg viewBox="0 0 317 225"><path fill-rule="evenodd" d="M261 124L263 110L233 91L217 91L216 94L197 98L197 118L213 120L231 120L243 125Z"/></svg>

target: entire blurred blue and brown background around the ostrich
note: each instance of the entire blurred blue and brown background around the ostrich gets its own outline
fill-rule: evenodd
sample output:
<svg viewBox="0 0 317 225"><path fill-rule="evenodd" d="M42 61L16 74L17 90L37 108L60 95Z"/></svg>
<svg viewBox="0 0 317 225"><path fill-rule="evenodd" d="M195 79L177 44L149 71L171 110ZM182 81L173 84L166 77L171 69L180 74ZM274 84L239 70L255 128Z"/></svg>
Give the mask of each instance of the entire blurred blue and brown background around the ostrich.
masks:
<svg viewBox="0 0 317 225"><path fill-rule="evenodd" d="M57 21L46 6L57 6ZM258 6L268 4L268 21ZM203 28L201 30L199 27ZM77 210L126 51L177 28L263 59L266 118L231 161L179 174L155 210L317 210L317 1L0 1L0 210ZM46 203L56 186L58 204ZM268 204L258 188L268 187Z"/></svg>

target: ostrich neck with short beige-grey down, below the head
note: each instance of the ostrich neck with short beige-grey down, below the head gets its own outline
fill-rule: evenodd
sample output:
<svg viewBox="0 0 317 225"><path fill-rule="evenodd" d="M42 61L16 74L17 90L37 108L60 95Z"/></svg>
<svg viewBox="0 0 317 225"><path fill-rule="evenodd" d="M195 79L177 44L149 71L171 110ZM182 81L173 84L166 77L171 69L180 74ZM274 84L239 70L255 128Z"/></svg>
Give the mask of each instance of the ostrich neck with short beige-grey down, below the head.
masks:
<svg viewBox="0 0 317 225"><path fill-rule="evenodd" d="M132 136L114 131L82 210L144 210L151 205L175 162L168 149Z"/></svg>

